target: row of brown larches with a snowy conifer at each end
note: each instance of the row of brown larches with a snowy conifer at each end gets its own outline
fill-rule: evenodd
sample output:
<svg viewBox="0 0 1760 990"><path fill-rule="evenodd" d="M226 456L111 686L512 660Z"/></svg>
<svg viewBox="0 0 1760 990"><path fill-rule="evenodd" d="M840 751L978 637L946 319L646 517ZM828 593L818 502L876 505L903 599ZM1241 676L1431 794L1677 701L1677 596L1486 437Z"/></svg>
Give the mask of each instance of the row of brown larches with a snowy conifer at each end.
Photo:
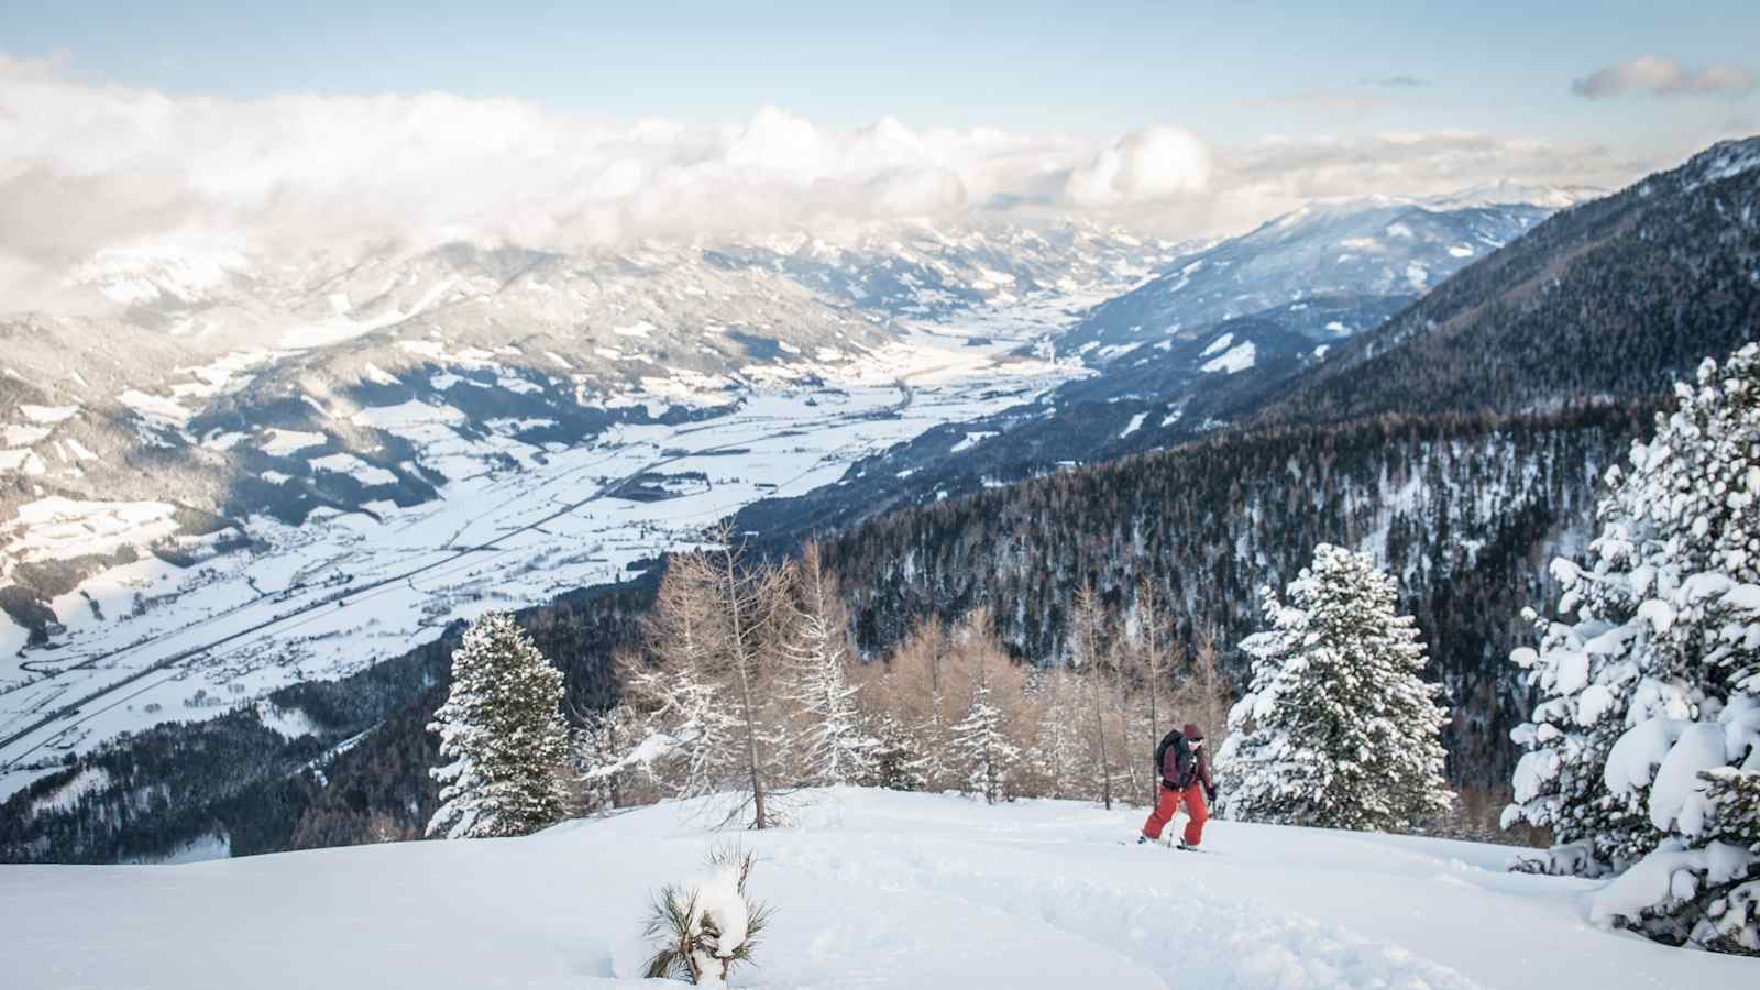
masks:
<svg viewBox="0 0 1760 990"><path fill-rule="evenodd" d="M623 699L577 726L572 772L561 673L510 618L479 618L429 726L445 789L428 833L528 833L568 814L570 796L584 812L718 796L722 824L767 828L796 789L838 784L1111 809L1158 794L1146 756L1163 719L1223 729L1232 692L1214 650L1183 662L1153 590L1132 622L1079 590L1061 668L1008 657L982 608L862 662L817 546L762 565L729 537L672 562L642 646L621 659ZM1447 712L1419 678L1427 657L1396 581L1322 544L1288 595L1265 588L1269 629L1246 643L1253 683L1227 717L1218 810L1353 830L1438 821L1456 798Z"/></svg>

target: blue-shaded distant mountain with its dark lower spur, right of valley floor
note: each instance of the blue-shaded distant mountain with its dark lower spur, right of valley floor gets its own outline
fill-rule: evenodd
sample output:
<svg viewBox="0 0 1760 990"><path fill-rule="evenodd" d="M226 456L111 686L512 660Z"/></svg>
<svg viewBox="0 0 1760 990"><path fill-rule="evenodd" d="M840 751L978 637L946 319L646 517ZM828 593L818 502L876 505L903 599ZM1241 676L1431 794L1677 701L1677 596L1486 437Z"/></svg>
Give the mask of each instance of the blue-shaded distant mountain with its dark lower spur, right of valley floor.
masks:
<svg viewBox="0 0 1760 990"><path fill-rule="evenodd" d="M859 465L836 490L741 518L766 534L836 528L1227 428L1558 204L1593 194L1496 185L1429 201L1325 203L1179 254L1056 340L1089 377L1031 407L926 433Z"/></svg>

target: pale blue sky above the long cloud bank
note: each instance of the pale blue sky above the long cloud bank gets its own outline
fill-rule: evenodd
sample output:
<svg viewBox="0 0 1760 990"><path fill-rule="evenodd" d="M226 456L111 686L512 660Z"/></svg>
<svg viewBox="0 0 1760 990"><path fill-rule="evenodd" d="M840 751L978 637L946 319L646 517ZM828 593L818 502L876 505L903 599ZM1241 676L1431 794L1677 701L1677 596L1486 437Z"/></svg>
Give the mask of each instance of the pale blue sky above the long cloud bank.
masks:
<svg viewBox="0 0 1760 990"><path fill-rule="evenodd" d="M1756 95L1588 100L1640 55L1760 70L1760 4L33 4L0 51L174 95L514 97L620 120L996 125L1207 141L1468 129L1639 153L1753 127ZM1375 86L1410 76L1424 86Z"/></svg>

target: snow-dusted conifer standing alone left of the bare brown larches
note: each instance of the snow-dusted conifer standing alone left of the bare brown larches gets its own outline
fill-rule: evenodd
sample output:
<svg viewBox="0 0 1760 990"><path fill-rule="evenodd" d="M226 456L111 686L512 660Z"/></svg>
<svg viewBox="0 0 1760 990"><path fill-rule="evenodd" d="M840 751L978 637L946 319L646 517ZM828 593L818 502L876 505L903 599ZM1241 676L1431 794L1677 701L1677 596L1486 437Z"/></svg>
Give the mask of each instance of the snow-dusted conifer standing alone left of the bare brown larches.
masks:
<svg viewBox="0 0 1760 990"><path fill-rule="evenodd" d="M502 613L484 613L452 654L452 691L435 712L447 763L428 835L524 835L563 816L568 726L561 671Z"/></svg>

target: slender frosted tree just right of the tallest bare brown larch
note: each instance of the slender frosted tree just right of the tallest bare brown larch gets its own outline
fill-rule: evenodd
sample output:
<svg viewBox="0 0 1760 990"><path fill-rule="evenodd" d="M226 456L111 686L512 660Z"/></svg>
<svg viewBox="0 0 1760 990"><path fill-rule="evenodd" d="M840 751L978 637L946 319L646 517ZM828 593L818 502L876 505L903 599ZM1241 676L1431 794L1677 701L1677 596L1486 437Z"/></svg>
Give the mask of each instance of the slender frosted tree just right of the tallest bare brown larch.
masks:
<svg viewBox="0 0 1760 990"><path fill-rule="evenodd" d="M824 569L818 546L808 544L796 567L788 599L792 634L783 643L788 696L801 722L804 782L852 784L873 763L875 738L862 726L861 687L847 676L848 650L836 580Z"/></svg>

